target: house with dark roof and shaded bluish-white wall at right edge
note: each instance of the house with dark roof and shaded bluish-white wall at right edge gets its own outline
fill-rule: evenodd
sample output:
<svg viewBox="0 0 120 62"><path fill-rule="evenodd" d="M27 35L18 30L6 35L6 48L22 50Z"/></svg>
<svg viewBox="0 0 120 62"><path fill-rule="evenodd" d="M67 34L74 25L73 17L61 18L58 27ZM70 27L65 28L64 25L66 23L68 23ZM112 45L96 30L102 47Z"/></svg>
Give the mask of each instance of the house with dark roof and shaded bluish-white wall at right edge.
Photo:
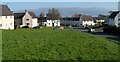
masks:
<svg viewBox="0 0 120 62"><path fill-rule="evenodd" d="M120 26L120 11L112 12L109 16L108 25L110 26Z"/></svg>

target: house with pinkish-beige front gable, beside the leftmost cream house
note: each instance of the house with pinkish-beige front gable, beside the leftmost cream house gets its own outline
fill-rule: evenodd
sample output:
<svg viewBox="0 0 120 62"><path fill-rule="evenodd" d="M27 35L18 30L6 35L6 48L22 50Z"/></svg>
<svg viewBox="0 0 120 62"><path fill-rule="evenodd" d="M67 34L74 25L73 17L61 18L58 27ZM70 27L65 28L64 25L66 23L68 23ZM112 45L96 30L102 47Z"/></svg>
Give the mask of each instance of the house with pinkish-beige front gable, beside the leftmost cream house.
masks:
<svg viewBox="0 0 120 62"><path fill-rule="evenodd" d="M38 18L33 12L25 10L23 13L14 13L15 26L28 26L29 28L38 26Z"/></svg>

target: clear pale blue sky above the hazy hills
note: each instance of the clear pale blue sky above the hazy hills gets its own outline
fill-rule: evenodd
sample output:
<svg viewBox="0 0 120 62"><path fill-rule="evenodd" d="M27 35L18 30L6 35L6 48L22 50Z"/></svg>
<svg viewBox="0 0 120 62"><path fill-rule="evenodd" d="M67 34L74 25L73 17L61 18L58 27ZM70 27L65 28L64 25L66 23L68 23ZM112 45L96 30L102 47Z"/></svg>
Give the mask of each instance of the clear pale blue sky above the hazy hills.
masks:
<svg viewBox="0 0 120 62"><path fill-rule="evenodd" d="M39 8L105 8L111 10L118 9L118 2L2 2L8 5L12 11L29 10Z"/></svg>

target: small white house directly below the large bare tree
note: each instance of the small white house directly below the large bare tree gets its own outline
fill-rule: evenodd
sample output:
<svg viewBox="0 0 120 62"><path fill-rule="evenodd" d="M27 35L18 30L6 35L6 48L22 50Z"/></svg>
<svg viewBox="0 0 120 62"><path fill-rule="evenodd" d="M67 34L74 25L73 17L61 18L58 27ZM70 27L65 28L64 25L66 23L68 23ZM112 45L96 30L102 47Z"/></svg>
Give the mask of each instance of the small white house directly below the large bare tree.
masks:
<svg viewBox="0 0 120 62"><path fill-rule="evenodd" d="M51 20L48 19L46 16L39 18L39 23L42 24L42 26L48 26L48 27L52 27L52 26L60 26L60 20Z"/></svg>

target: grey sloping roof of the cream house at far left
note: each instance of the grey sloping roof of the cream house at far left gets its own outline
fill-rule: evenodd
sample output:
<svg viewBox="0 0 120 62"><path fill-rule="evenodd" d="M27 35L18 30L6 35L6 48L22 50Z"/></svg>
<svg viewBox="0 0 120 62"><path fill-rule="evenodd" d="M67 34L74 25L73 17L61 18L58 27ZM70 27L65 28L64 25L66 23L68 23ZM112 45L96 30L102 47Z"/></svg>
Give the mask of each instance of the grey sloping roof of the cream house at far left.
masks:
<svg viewBox="0 0 120 62"><path fill-rule="evenodd" d="M13 12L7 5L0 5L0 16L9 16L13 15Z"/></svg>

